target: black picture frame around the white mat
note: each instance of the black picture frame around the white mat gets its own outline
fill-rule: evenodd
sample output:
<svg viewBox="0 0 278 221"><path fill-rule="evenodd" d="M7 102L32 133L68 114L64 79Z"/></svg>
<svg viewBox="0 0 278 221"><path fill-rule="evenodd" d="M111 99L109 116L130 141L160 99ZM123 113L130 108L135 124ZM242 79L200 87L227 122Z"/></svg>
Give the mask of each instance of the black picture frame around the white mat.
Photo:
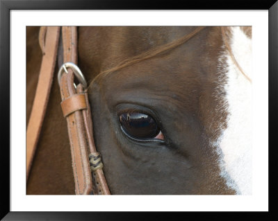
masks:
<svg viewBox="0 0 278 221"><path fill-rule="evenodd" d="M0 121L1 121L1 215L3 220L142 220L158 218L156 213L103 213L103 212L11 212L10 211L10 10L150 10L150 9L183 9L183 10L268 10L269 13L269 212L266 213L229 213L229 218L256 218L263 220L277 219L277 139L275 125L277 125L277 95L278 95L278 2L277 0L215 0L215 1L113 1L113 0L70 0L70 1L27 1L0 0ZM24 70L23 70L24 71ZM24 144L22 144L24 146ZM174 215L176 215L175 213ZM172 213L160 214L163 218L171 218ZM215 213L179 213L184 218L202 216L217 219L220 214ZM197 215L197 216L196 216ZM228 217L227 213L221 213Z"/></svg>

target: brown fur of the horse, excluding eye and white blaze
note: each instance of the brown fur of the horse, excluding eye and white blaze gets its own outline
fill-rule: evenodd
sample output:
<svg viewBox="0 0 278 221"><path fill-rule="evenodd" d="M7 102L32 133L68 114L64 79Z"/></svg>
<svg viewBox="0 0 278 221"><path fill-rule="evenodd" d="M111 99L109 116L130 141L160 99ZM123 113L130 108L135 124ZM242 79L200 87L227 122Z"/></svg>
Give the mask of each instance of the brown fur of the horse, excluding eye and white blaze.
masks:
<svg viewBox="0 0 278 221"><path fill-rule="evenodd" d="M79 27L79 67L90 84L95 142L112 194L234 194L211 145L227 127L226 69L220 27L147 59L123 61L190 34L196 27ZM38 28L27 28L27 122L40 69ZM136 57L137 56L137 57ZM223 63L224 64L224 63ZM114 67L117 67L113 69ZM119 68L120 67L120 68ZM100 75L107 73L109 75ZM57 68L56 68L57 71ZM95 80L94 80L95 79ZM155 116L165 142L140 143L120 131L117 114ZM67 127L55 79L27 194L74 194Z"/></svg>

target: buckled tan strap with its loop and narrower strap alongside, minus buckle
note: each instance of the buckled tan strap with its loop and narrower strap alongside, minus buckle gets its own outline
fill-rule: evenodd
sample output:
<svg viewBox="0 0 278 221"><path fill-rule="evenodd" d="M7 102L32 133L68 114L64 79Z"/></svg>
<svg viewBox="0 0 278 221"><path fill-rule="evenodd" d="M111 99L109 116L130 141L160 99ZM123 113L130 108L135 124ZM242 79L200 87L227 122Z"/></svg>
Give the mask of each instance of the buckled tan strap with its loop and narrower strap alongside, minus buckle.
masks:
<svg viewBox="0 0 278 221"><path fill-rule="evenodd" d="M77 62L76 27L62 28L64 62ZM74 87L74 73L67 69L60 80L63 114L67 120L72 153L72 168L76 194L110 194L104 173L98 167L93 175L89 152L96 153L92 139L92 121L87 90L79 84ZM85 133L84 133L85 132ZM95 185L93 185L93 183Z"/></svg>

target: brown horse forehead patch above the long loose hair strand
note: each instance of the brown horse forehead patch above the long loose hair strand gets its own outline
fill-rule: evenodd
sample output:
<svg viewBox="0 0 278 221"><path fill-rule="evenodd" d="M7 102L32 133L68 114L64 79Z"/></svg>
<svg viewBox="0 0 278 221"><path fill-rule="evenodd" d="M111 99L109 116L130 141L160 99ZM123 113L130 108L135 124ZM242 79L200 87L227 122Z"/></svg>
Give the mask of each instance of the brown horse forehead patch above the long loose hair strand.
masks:
<svg viewBox="0 0 278 221"><path fill-rule="evenodd" d="M79 59L96 72L115 67L127 58L179 39L195 27L80 27ZM81 64L82 65L82 64ZM96 73L97 74L97 73Z"/></svg>

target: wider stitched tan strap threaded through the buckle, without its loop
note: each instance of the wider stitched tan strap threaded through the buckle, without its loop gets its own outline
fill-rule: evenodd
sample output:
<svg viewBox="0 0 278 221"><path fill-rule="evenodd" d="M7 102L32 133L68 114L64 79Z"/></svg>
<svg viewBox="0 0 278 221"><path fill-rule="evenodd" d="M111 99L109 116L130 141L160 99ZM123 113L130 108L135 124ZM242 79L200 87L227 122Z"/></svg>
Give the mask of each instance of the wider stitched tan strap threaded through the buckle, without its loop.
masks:
<svg viewBox="0 0 278 221"><path fill-rule="evenodd" d="M76 64L76 27L63 27L63 49L64 62L73 62ZM60 83L60 92L62 104L72 99L76 95L74 89L74 73L67 69L68 73L63 74ZM71 107L68 107L72 109ZM83 122L81 111L77 110L66 116L67 131L70 138L70 148L72 153L72 168L74 172L75 193L78 195L90 194L92 192L92 176L90 174L90 165L88 163L88 152L85 143L85 134L83 134Z"/></svg>

